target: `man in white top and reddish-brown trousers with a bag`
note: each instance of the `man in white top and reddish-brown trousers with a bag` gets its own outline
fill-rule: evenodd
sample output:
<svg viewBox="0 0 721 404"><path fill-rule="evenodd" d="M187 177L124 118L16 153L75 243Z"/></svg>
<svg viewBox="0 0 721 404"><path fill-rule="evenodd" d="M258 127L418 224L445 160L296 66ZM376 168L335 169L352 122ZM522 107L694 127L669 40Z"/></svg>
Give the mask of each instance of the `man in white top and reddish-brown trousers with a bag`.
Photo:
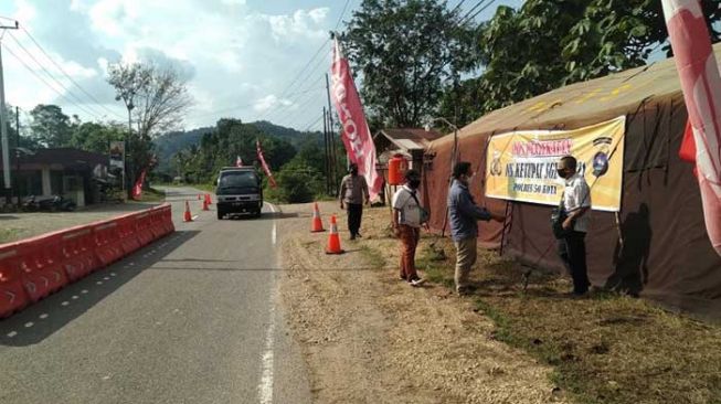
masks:
<svg viewBox="0 0 721 404"><path fill-rule="evenodd" d="M423 279L415 270L415 248L421 240L421 226L426 230L427 214L420 202L421 176L415 170L405 172L405 184L393 195L393 233L401 240L401 279L421 286Z"/></svg>

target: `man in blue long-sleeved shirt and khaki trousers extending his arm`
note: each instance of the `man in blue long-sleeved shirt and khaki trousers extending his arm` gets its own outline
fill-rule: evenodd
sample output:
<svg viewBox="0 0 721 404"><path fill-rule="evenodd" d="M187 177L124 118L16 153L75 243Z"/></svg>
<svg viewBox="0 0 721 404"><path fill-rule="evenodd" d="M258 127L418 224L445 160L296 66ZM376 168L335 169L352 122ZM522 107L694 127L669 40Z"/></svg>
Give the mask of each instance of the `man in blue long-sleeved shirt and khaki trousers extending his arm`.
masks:
<svg viewBox="0 0 721 404"><path fill-rule="evenodd" d="M490 221L491 219L502 221L503 217L479 208L474 202L468 184L474 177L470 163L460 161L453 168L453 184L448 192L448 219L450 223L450 236L456 246L456 273L454 280L458 295L467 295L470 291L468 275L470 268L476 264L478 221Z"/></svg>

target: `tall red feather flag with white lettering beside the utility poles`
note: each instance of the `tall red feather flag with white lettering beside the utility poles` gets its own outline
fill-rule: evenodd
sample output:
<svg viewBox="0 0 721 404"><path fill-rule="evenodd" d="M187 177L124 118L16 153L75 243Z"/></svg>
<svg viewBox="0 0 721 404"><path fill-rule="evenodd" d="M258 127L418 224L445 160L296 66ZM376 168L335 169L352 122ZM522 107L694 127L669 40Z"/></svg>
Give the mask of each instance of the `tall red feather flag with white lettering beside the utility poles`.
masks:
<svg viewBox="0 0 721 404"><path fill-rule="evenodd" d="M341 53L338 39L333 44L333 61L330 70L332 73L331 97L343 127L341 138L346 146L348 160L358 164L358 173L365 177L370 198L374 200L383 187L383 178L375 170L375 145L373 145L368 129L365 114L351 76L348 60Z"/></svg>

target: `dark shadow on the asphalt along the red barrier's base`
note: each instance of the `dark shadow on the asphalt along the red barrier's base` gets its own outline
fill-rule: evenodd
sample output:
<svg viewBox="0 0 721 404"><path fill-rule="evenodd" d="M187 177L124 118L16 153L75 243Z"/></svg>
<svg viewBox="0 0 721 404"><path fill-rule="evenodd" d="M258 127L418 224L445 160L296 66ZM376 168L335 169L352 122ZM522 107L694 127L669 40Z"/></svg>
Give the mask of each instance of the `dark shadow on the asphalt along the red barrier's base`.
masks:
<svg viewBox="0 0 721 404"><path fill-rule="evenodd" d="M146 246L132 255L68 285L56 294L0 320L0 345L25 347L39 343L68 322L115 293L123 285L162 261L183 243L198 235L197 231L176 232ZM163 246L163 243L165 246ZM152 249L156 254L149 255ZM138 259L142 257L142 259ZM138 263L127 267L128 263Z"/></svg>

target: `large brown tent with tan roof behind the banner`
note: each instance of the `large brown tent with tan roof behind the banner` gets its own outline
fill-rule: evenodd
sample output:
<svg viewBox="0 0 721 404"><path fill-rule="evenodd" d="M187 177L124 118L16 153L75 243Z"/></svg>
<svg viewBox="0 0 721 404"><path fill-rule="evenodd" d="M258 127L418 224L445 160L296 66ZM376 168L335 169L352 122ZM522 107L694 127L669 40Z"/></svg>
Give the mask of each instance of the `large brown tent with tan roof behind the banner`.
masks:
<svg viewBox="0 0 721 404"><path fill-rule="evenodd" d="M721 46L714 51L718 57ZM505 236L501 223L481 223L479 241L498 246L502 238L505 254L561 269L549 206L484 198L488 139L515 129L576 129L622 115L627 119L621 221L616 223L614 213L592 212L586 237L591 280L721 316L721 257L706 234L692 164L678 157L687 111L674 60L565 86L464 127L459 159L470 161L477 172L471 185L476 202L508 213ZM424 195L435 230L445 222L453 142L447 135L430 146L435 158L426 170Z"/></svg>

